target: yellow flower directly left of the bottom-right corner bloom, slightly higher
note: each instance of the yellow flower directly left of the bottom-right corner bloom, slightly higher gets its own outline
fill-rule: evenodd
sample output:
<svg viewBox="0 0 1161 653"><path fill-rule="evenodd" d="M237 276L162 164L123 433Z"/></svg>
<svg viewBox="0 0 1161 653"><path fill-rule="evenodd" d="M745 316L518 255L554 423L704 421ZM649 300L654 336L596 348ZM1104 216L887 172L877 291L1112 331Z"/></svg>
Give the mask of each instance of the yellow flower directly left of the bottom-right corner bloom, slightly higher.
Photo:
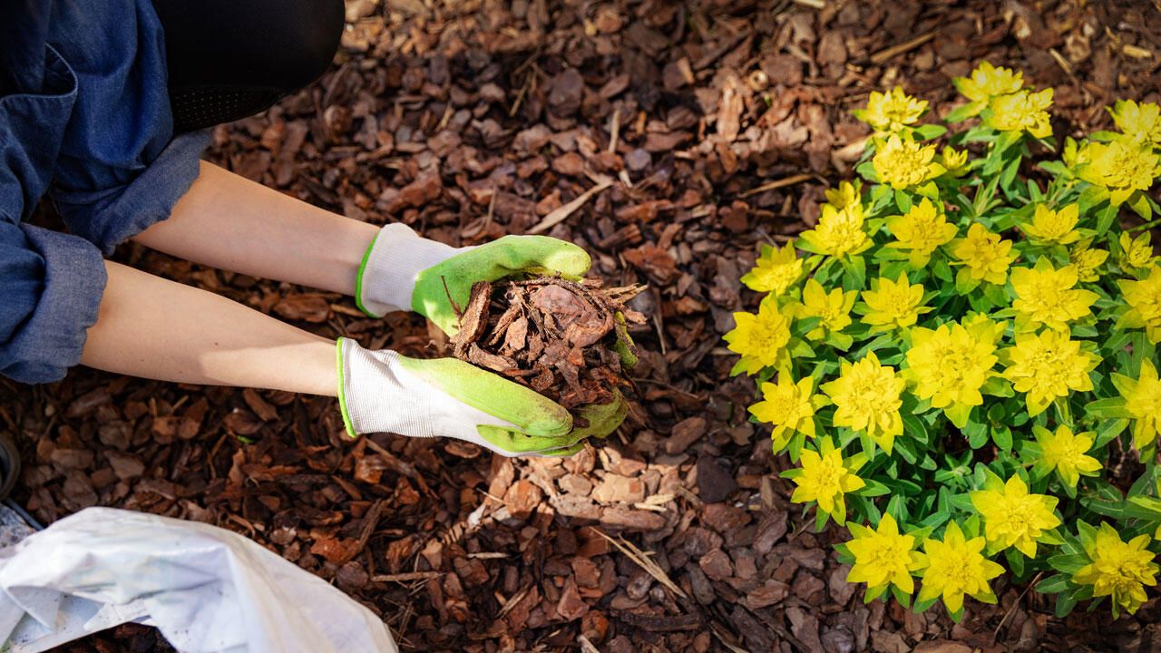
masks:
<svg viewBox="0 0 1161 653"><path fill-rule="evenodd" d="M1037 539L1060 525L1060 519L1053 514L1060 500L1029 494L1027 485L1019 476L1008 479L1004 491L976 490L971 496L972 505L983 517L985 534L991 551L1015 546L1024 555L1036 558Z"/></svg>

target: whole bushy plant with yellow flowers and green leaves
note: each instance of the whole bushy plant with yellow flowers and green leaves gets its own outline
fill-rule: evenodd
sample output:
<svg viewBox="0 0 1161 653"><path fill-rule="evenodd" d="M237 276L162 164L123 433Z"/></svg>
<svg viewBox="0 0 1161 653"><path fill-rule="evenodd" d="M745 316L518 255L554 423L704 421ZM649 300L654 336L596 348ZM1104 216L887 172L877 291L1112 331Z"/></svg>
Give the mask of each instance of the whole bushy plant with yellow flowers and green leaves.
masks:
<svg viewBox="0 0 1161 653"><path fill-rule="evenodd" d="M1133 612L1161 553L1161 110L1058 143L1051 88L987 63L956 85L944 124L899 87L856 112L861 179L763 246L733 373L867 601L958 619L1007 571L1061 616Z"/></svg>

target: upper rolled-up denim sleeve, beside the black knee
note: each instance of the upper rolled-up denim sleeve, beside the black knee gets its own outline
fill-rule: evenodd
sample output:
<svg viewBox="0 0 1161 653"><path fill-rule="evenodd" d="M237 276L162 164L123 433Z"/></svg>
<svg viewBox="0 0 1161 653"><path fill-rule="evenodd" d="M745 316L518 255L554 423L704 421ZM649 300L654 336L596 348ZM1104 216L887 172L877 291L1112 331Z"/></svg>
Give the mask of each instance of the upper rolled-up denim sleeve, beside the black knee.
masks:
<svg viewBox="0 0 1161 653"><path fill-rule="evenodd" d="M77 27L53 45L79 92L49 194L70 232L109 254L170 216L197 178L209 134L173 137L165 35L152 0L56 2L52 21L55 33Z"/></svg>

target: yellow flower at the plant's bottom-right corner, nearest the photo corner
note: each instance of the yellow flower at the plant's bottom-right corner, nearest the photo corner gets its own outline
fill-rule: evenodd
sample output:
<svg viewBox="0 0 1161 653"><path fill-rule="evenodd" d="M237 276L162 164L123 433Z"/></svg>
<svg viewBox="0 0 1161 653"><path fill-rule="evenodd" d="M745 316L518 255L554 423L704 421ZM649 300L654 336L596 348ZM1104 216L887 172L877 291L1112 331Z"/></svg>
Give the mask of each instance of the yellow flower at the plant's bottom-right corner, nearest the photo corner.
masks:
<svg viewBox="0 0 1161 653"><path fill-rule="evenodd" d="M1117 608L1132 615L1148 601L1145 588L1156 584L1158 566L1153 552L1145 548L1149 536L1137 536L1127 543L1108 523L1101 523L1094 541L1084 543L1091 564L1073 574L1076 584L1093 586L1093 596L1112 597L1112 616Z"/></svg>

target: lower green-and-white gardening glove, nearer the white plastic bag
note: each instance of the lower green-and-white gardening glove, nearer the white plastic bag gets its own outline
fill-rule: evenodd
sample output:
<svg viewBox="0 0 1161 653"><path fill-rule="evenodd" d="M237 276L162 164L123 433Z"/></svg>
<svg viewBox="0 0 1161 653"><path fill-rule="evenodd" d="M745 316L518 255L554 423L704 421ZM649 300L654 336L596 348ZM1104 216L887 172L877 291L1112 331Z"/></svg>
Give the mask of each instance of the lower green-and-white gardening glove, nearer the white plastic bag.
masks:
<svg viewBox="0 0 1161 653"><path fill-rule="evenodd" d="M590 424L574 430L560 404L462 360L369 351L349 338L337 346L339 408L351 437L392 432L455 438L509 457L571 455L590 433L604 437L625 418L622 411L618 419L616 401L585 407Z"/></svg>

